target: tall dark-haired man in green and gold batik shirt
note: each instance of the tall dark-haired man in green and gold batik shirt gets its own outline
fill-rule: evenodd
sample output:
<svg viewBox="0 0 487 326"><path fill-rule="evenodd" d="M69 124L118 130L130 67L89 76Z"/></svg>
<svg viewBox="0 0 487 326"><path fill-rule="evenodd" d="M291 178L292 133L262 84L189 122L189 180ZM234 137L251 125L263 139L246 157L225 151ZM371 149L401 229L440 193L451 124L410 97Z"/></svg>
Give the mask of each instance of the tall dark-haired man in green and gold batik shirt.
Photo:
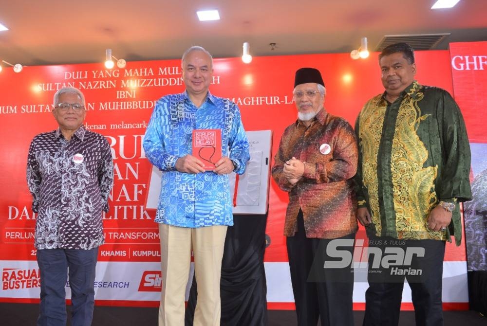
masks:
<svg viewBox="0 0 487 326"><path fill-rule="evenodd" d="M414 254L389 265L369 255L363 325L398 324L404 278L416 325L443 325L445 241L454 234L460 244L459 202L471 199L467 131L447 91L414 79L408 44L386 47L379 64L385 92L356 120L357 218L366 227L369 253Z"/></svg>

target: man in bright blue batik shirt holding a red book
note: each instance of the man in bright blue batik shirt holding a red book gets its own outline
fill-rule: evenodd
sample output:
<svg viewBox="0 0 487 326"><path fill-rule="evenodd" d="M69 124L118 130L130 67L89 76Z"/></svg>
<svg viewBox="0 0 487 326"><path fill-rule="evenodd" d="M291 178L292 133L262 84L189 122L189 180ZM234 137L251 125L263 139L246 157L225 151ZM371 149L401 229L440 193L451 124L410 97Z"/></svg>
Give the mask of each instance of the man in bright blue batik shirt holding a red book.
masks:
<svg viewBox="0 0 487 326"><path fill-rule="evenodd" d="M211 54L189 48L182 69L186 91L157 101L143 143L150 163L163 171L155 217L163 278L159 326L184 325L191 250L198 291L193 325L219 326L223 248L233 225L228 174L244 173L248 141L237 105L208 91ZM213 171L191 155L193 129L222 131L222 158Z"/></svg>

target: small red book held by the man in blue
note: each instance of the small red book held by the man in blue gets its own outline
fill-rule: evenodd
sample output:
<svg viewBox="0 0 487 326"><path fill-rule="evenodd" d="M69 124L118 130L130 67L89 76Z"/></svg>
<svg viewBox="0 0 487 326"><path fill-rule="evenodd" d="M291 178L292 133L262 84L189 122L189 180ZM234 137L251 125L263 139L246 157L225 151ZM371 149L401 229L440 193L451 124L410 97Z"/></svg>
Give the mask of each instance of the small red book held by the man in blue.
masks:
<svg viewBox="0 0 487 326"><path fill-rule="evenodd" d="M215 169L215 163L222 158L222 130L194 129L193 156L200 159L206 171Z"/></svg>

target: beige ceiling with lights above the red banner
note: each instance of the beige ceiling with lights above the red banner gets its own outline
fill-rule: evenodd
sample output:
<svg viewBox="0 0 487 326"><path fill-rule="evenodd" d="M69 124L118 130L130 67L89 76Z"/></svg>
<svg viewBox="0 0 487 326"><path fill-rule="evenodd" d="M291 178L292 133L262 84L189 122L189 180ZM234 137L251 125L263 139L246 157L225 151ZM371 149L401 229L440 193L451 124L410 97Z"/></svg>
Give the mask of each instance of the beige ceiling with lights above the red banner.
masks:
<svg viewBox="0 0 487 326"><path fill-rule="evenodd" d="M0 60L24 65L100 62L105 49L127 61L175 59L191 45L214 57L342 53L367 36L451 33L450 42L487 40L487 0L3 0ZM218 9L200 22L196 11ZM271 50L269 43L276 43Z"/></svg>

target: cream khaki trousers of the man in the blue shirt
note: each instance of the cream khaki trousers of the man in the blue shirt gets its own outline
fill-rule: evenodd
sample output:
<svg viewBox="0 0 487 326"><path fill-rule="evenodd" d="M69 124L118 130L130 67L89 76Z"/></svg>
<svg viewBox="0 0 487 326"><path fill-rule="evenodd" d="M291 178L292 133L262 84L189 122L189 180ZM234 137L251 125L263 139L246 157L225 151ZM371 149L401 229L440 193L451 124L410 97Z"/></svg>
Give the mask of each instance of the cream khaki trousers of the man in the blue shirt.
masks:
<svg viewBox="0 0 487 326"><path fill-rule="evenodd" d="M191 229L159 224L162 266L159 326L184 326L191 250L198 291L193 326L220 326L220 276L226 229L225 225Z"/></svg>

